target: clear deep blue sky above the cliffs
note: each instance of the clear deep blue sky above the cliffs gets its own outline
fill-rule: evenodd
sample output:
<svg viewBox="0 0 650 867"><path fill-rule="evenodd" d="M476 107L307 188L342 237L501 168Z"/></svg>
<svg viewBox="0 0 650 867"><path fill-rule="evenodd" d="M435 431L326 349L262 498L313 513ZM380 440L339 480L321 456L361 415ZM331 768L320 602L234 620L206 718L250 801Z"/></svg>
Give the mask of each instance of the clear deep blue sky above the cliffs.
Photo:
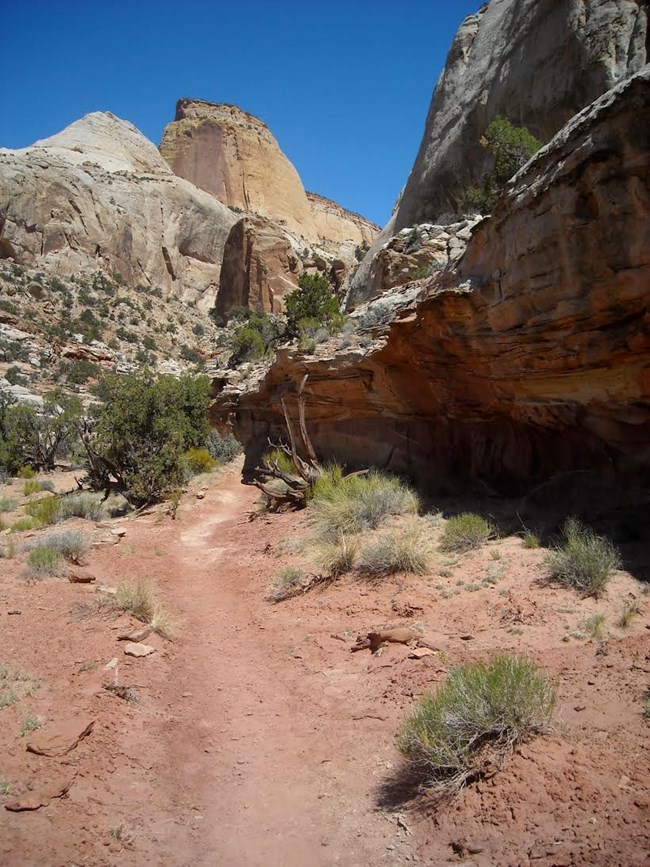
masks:
<svg viewBox="0 0 650 867"><path fill-rule="evenodd" d="M156 144L176 99L262 118L307 189L384 224L481 0L0 0L0 146L90 111Z"/></svg>

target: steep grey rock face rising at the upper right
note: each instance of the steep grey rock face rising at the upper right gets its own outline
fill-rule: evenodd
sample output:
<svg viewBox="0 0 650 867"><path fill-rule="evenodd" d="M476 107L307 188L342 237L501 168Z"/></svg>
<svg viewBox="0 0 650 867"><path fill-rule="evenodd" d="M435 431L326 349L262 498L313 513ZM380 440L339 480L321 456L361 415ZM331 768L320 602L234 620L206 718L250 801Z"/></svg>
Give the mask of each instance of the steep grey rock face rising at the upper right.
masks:
<svg viewBox="0 0 650 867"><path fill-rule="evenodd" d="M389 224L352 281L377 288L375 257L393 235L445 222L489 167L480 139L503 115L542 142L648 60L645 0L491 0L461 25L437 83L420 149Z"/></svg>

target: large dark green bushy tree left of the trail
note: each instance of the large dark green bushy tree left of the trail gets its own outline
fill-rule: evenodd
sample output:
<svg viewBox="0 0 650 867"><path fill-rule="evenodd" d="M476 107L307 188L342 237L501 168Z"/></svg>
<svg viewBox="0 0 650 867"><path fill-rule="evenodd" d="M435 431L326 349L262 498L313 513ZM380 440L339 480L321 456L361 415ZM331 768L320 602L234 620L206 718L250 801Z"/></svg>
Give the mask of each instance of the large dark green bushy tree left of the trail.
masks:
<svg viewBox="0 0 650 867"><path fill-rule="evenodd" d="M91 486L117 489L137 506L181 487L184 453L201 448L210 431L208 377L145 370L106 377L102 394L84 441Z"/></svg>

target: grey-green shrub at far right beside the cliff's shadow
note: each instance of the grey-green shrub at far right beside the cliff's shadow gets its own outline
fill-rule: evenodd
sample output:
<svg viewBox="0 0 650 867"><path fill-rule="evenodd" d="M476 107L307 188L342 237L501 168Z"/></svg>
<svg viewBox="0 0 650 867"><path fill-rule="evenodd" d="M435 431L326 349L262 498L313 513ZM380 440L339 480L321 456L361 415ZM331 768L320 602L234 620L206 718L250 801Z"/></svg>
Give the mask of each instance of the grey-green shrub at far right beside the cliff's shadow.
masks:
<svg viewBox="0 0 650 867"><path fill-rule="evenodd" d="M544 560L550 577L583 596L600 596L621 565L620 554L609 539L596 535L577 518L567 518L562 532L564 545L549 551Z"/></svg>

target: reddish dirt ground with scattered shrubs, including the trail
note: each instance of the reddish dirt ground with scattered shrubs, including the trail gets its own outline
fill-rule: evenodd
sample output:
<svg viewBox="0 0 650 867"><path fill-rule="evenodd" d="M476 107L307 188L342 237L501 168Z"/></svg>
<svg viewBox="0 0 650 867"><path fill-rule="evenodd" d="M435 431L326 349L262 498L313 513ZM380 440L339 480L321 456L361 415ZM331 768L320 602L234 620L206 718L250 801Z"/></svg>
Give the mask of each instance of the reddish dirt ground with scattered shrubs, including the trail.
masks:
<svg viewBox="0 0 650 867"><path fill-rule="evenodd" d="M619 572L603 599L581 599L544 586L543 551L510 537L440 554L427 576L348 576L272 604L273 576L302 556L305 515L251 520L257 491L236 469L198 493L176 520L67 522L93 533L70 572L94 583L28 583L24 554L0 560L0 665L15 698L0 707L0 863L650 863L647 585ZM174 641L145 639L144 658L117 640L141 624L96 606L97 585L136 578L180 621ZM622 629L626 600L642 614ZM595 613L600 640L584 631ZM441 652L350 652L357 634L398 624L435 633ZM395 734L414 699L450 666L503 650L557 681L552 734L451 802L409 790ZM63 755L27 749L61 726L66 749L90 723Z"/></svg>

